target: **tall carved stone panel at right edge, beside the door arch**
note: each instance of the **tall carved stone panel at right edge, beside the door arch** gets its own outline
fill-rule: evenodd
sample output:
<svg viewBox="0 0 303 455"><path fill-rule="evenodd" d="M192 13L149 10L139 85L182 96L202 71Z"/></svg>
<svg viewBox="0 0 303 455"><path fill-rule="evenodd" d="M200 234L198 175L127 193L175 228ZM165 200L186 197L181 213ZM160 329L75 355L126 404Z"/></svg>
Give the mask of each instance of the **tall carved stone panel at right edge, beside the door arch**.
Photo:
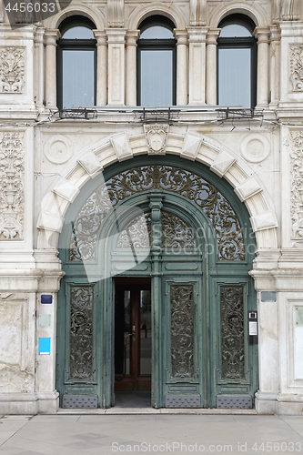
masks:
<svg viewBox="0 0 303 455"><path fill-rule="evenodd" d="M303 132L291 135L290 216L292 238L303 240Z"/></svg>

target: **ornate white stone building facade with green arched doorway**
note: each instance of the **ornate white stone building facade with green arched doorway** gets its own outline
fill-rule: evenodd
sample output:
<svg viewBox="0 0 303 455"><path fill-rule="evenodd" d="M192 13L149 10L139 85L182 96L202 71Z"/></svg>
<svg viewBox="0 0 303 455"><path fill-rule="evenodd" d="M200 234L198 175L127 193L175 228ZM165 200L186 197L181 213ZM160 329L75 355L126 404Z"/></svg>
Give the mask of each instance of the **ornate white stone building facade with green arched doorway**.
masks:
<svg viewBox="0 0 303 455"><path fill-rule="evenodd" d="M115 302L141 286L149 326L128 339L151 331L152 367L134 379L133 363L120 385L151 387L156 407L301 414L302 2L72 0L34 21L6 5L0 413L113 406L115 361L126 361ZM246 18L249 106L219 104L222 30ZM172 24L172 102L145 106L139 43L161 20ZM96 46L95 100L76 107L63 104L74 79L60 60L74 26Z"/></svg>

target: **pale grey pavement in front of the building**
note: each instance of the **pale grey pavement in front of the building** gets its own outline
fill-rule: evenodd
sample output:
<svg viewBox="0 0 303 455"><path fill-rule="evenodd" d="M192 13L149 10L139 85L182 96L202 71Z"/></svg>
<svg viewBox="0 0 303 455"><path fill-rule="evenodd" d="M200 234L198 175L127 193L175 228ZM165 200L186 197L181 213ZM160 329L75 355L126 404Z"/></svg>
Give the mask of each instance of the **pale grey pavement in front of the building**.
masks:
<svg viewBox="0 0 303 455"><path fill-rule="evenodd" d="M0 454L302 454L303 417L253 414L3 416Z"/></svg>

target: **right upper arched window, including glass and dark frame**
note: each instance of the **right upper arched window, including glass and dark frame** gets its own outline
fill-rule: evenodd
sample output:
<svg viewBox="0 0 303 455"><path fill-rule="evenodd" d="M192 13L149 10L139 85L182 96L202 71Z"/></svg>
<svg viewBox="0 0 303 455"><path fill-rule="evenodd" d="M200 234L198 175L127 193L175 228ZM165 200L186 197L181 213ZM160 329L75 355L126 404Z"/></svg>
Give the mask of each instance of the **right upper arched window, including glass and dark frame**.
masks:
<svg viewBox="0 0 303 455"><path fill-rule="evenodd" d="M246 15L228 15L218 25L217 104L250 108L257 103L255 24Z"/></svg>

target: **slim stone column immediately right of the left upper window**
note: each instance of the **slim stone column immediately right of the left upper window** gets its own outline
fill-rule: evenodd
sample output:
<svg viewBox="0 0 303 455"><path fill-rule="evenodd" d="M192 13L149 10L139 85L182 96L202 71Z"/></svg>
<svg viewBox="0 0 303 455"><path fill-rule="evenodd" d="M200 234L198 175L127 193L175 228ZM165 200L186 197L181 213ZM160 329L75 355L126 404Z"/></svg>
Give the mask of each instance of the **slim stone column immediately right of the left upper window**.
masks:
<svg viewBox="0 0 303 455"><path fill-rule="evenodd" d="M96 38L96 106L107 103L107 36L106 32L93 30Z"/></svg>

